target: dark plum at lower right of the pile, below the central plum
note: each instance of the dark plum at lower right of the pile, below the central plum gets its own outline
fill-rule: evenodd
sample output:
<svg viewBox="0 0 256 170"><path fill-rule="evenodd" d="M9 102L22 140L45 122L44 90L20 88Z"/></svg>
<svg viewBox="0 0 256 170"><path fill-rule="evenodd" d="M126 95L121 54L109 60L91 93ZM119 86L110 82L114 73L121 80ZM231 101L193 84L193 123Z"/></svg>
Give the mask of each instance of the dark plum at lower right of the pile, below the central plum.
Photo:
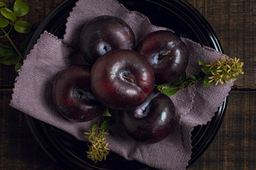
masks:
<svg viewBox="0 0 256 170"><path fill-rule="evenodd" d="M171 99L154 90L138 108L120 110L119 121L133 139L154 144L165 139L175 123L175 106Z"/></svg>

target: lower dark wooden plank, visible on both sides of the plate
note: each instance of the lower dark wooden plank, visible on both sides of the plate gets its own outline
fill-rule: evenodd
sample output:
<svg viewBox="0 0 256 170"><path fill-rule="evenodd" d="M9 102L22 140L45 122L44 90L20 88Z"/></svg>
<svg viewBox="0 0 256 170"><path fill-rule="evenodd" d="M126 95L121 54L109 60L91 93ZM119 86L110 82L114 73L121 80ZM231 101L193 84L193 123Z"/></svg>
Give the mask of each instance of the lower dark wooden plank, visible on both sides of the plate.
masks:
<svg viewBox="0 0 256 170"><path fill-rule="evenodd" d="M59 170L31 134L24 114L11 108L11 90L0 91L0 170ZM254 170L256 92L231 91L222 127L189 170Z"/></svg>

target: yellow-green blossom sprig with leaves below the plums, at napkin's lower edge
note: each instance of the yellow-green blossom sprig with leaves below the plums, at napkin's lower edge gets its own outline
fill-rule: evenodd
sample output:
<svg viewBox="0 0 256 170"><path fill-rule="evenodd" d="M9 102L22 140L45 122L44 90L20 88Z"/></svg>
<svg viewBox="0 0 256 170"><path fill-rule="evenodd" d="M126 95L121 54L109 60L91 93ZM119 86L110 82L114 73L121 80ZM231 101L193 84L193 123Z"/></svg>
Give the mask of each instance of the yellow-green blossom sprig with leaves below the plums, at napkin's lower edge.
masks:
<svg viewBox="0 0 256 170"><path fill-rule="evenodd" d="M108 112L108 108L106 108L103 113L103 116L110 117L110 113ZM89 150L86 152L88 155L87 157L97 163L97 161L102 161L103 159L106 160L106 157L109 154L110 149L108 148L108 141L107 135L108 134L108 127L112 124L113 118L110 117L106 119L101 126L99 126L101 117L98 119L98 124L94 124L92 126L92 130L89 132L84 132L86 138L88 138L88 147Z"/></svg>

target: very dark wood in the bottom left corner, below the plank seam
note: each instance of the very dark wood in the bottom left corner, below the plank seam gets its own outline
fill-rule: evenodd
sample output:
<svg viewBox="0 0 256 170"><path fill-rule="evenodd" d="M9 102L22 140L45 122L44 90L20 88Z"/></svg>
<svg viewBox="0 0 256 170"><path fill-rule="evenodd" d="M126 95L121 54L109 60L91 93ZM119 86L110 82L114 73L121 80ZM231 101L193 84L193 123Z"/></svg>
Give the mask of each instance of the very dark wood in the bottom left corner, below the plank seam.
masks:
<svg viewBox="0 0 256 170"><path fill-rule="evenodd" d="M9 106L11 93L0 90L0 170L59 170L40 148L24 114Z"/></svg>

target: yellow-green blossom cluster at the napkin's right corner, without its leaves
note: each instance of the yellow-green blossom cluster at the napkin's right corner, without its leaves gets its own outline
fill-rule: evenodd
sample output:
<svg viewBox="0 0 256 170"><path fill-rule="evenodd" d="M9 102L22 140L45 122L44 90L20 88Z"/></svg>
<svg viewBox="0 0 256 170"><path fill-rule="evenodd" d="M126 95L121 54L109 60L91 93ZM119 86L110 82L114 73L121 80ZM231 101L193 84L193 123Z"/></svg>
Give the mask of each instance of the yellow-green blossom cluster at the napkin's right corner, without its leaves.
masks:
<svg viewBox="0 0 256 170"><path fill-rule="evenodd" d="M232 60L231 58L227 59L221 57L217 59L216 62L210 62L206 66L209 67L209 70L213 76L209 77L209 83L216 82L216 85L220 82L222 85L224 82L232 82L233 79L237 79L240 74L243 74L243 62L240 62L239 58Z"/></svg>

